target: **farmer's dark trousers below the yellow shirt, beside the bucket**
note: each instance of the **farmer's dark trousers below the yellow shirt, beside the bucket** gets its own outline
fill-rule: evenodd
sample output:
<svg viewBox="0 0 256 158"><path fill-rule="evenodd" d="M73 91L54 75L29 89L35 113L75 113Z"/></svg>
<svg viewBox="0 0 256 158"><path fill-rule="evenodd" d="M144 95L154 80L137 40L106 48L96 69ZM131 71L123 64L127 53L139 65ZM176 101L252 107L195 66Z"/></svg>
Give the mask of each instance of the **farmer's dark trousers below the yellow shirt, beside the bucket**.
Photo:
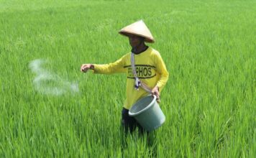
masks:
<svg viewBox="0 0 256 158"><path fill-rule="evenodd" d="M134 117L129 116L129 110L126 108L122 109L122 126L124 128L125 134L128 132L132 133L136 129L136 127L139 129L140 134L145 134L146 130L140 126L140 124L137 122Z"/></svg>

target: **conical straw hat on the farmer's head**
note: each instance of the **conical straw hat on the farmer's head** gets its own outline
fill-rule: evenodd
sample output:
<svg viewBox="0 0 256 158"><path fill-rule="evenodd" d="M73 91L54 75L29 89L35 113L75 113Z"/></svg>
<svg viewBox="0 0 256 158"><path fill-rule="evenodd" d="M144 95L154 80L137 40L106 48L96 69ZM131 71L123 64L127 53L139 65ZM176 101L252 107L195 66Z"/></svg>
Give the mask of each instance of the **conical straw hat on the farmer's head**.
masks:
<svg viewBox="0 0 256 158"><path fill-rule="evenodd" d="M150 32L150 29L147 28L146 24L142 20L134 22L132 24L129 24L127 27L122 28L119 31L119 34L127 37L129 36L129 34L135 34L140 37L145 37L145 42L155 42L154 37Z"/></svg>

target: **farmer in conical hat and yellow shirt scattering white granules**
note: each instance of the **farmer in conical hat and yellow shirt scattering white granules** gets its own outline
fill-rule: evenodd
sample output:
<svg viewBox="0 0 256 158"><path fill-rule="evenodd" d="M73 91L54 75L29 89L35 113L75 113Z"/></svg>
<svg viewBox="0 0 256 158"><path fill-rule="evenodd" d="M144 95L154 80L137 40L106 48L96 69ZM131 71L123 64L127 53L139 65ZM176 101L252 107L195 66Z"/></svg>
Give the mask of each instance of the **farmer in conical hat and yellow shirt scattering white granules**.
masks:
<svg viewBox="0 0 256 158"><path fill-rule="evenodd" d="M91 69L94 73L101 74L126 73L127 98L122 109L122 126L126 134L128 131L134 131L136 127L143 133L145 130L142 126L129 116L129 109L140 98L149 93L155 95L157 101L160 101L160 91L163 90L169 74L160 53L145 45L145 42L153 43L155 41L142 20L124 27L119 31L119 34L129 37L131 52L113 63L105 65L83 64L81 71L86 73L87 70Z"/></svg>

